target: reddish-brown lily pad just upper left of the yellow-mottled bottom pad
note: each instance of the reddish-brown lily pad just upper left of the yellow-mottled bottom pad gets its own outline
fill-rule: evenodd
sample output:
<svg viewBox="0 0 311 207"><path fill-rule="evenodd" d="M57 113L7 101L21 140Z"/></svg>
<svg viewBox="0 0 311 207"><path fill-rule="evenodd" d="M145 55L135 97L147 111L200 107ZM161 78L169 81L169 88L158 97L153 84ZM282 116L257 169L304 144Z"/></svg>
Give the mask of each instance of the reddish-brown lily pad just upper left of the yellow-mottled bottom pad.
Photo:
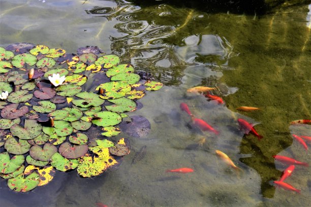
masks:
<svg viewBox="0 0 311 207"><path fill-rule="evenodd" d="M69 142L63 143L59 146L58 149L61 156L64 156L67 159L76 159L83 157L87 151L87 145L74 145L72 146Z"/></svg>

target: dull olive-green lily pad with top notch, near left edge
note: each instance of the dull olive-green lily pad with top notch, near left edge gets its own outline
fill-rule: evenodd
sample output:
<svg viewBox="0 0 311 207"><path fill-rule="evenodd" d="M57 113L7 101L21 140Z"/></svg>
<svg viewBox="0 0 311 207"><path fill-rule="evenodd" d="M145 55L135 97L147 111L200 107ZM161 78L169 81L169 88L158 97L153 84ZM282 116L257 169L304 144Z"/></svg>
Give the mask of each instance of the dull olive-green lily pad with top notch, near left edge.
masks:
<svg viewBox="0 0 311 207"><path fill-rule="evenodd" d="M14 137L10 137L5 143L5 149L10 154L21 155L29 151L31 145L26 140L18 139L18 142Z"/></svg>

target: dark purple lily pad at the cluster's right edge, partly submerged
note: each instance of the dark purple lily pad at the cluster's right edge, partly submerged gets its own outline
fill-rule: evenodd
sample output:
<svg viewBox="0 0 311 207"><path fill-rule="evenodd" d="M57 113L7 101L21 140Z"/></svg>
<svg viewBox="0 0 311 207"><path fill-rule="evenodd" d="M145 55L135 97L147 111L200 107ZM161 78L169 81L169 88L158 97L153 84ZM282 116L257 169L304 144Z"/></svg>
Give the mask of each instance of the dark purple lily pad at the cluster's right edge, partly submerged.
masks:
<svg viewBox="0 0 311 207"><path fill-rule="evenodd" d="M150 131L150 122L142 116L131 116L131 122L122 122L118 125L122 132L134 137L146 136Z"/></svg>

